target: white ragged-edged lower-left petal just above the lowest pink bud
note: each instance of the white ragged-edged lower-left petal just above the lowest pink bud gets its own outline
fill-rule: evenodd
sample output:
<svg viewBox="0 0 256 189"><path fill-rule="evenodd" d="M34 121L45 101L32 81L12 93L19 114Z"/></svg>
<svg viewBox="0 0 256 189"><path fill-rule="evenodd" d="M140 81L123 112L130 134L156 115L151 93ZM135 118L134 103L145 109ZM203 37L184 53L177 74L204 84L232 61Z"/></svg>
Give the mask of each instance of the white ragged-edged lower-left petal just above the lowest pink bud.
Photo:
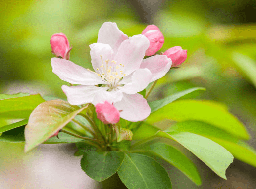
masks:
<svg viewBox="0 0 256 189"><path fill-rule="evenodd" d="M107 87L96 87L94 85L79 85L68 87L63 85L63 92L67 96L67 101L72 105L81 105L86 103L109 103L117 102L122 99L121 91L106 91Z"/></svg>

